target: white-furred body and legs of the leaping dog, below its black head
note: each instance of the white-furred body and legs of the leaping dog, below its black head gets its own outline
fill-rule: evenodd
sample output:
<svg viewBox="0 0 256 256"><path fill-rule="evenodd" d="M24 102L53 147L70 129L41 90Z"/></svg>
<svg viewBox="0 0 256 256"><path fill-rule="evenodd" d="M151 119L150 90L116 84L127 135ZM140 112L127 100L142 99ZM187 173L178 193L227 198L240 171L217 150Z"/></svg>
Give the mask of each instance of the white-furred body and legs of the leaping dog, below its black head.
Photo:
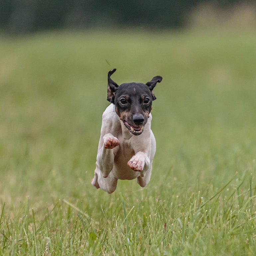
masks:
<svg viewBox="0 0 256 256"><path fill-rule="evenodd" d="M143 133L132 135L110 104L102 115L96 169L91 184L112 193L117 181L133 180L145 187L150 180L152 161L156 153L156 140L151 131L149 114ZM105 148L107 145L108 148Z"/></svg>

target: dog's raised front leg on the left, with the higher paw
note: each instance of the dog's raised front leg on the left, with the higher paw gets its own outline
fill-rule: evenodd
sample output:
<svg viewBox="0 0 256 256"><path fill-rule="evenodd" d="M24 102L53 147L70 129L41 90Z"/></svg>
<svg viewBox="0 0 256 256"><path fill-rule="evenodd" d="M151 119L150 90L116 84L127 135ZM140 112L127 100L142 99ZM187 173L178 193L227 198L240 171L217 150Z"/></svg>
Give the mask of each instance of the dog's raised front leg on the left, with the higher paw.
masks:
<svg viewBox="0 0 256 256"><path fill-rule="evenodd" d="M113 148L119 145L119 141L111 133L103 136L103 145L97 154L97 165L103 178L107 178L113 169L114 151Z"/></svg>

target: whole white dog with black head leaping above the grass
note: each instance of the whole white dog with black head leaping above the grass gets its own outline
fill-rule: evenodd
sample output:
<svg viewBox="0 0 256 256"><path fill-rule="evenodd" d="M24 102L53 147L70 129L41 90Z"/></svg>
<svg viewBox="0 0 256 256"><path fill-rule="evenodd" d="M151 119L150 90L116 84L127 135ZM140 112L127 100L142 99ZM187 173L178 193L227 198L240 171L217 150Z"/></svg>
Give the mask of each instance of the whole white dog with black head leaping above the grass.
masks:
<svg viewBox="0 0 256 256"><path fill-rule="evenodd" d="M120 86L108 72L107 100L111 104L102 115L96 169L91 184L112 193L117 181L133 180L145 187L150 180L156 140L151 131L153 91L161 76L144 83Z"/></svg>

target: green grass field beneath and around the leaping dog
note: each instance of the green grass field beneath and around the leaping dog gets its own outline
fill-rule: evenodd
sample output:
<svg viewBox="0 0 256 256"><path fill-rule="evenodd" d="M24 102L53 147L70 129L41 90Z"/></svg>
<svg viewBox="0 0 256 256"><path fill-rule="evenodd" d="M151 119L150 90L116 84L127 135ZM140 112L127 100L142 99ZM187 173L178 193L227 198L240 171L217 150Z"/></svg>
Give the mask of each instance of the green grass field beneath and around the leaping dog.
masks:
<svg viewBox="0 0 256 256"><path fill-rule="evenodd" d="M0 255L255 255L256 30L0 39ZM145 188L93 178L107 72L155 88Z"/></svg>

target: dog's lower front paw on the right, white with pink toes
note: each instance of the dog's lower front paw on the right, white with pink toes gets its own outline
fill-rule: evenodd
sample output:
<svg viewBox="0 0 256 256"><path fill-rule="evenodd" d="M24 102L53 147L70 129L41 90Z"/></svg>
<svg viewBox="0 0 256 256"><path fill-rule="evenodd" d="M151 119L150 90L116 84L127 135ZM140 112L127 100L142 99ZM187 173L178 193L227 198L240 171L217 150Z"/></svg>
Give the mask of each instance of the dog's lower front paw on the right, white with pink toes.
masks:
<svg viewBox="0 0 256 256"><path fill-rule="evenodd" d="M150 168L150 159L146 153L139 151L132 156L127 164L132 170L141 172L140 176L144 177L146 171Z"/></svg>

